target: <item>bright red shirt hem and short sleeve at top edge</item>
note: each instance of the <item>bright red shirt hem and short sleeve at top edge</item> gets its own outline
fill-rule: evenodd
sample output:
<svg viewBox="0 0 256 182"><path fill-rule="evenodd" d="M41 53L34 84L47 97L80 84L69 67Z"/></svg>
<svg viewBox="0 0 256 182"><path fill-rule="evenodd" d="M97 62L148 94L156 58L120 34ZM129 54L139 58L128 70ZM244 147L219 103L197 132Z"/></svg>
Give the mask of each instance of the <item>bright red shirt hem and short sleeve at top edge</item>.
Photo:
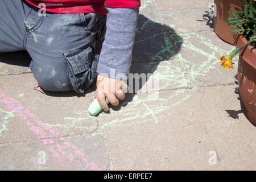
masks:
<svg viewBox="0 0 256 182"><path fill-rule="evenodd" d="M140 0L26 0L28 3L38 6L39 3L46 5L46 11L52 13L97 13L107 14L105 6L110 7L139 7Z"/></svg>

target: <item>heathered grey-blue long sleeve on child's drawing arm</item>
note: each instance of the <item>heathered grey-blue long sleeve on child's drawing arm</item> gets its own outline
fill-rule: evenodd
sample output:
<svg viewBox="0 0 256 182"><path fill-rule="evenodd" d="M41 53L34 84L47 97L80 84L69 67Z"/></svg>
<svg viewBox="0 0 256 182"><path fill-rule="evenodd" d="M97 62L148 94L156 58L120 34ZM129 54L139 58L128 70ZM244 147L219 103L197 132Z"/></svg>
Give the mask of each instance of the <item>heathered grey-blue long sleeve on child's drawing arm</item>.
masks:
<svg viewBox="0 0 256 182"><path fill-rule="evenodd" d="M139 8L106 9L109 13L97 73L106 77L125 79L131 66Z"/></svg>

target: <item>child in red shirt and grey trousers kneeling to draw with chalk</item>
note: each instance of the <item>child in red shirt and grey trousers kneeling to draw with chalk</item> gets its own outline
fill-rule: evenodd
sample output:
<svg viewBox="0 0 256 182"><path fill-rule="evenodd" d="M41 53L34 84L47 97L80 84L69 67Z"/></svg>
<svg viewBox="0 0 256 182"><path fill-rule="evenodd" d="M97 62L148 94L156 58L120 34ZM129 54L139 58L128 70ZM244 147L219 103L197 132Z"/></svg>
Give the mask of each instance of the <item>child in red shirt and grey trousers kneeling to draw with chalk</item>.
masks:
<svg viewBox="0 0 256 182"><path fill-rule="evenodd" d="M45 90L83 93L97 77L96 97L108 110L105 97L112 105L125 98L140 3L0 0L0 52L26 50ZM105 30L99 56L95 42Z"/></svg>

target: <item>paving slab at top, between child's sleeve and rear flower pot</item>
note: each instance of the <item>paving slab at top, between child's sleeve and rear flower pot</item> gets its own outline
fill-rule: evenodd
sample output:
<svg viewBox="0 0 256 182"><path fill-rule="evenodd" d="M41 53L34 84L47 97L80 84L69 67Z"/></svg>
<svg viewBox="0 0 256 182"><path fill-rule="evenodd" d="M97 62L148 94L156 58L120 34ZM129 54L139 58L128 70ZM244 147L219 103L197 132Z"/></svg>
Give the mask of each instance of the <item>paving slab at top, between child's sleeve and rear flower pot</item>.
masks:
<svg viewBox="0 0 256 182"><path fill-rule="evenodd" d="M201 2L142 1L140 13L154 22L171 27L168 31L213 31L213 17L209 16L209 5L213 1Z"/></svg>

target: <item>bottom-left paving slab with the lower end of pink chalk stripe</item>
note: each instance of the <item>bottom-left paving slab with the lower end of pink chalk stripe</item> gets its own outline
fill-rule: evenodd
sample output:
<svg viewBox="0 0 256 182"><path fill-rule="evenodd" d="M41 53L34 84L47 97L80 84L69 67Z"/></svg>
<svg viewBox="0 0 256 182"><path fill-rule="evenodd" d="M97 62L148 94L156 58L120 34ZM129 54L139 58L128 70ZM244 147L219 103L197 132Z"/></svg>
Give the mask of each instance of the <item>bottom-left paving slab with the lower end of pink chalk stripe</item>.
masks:
<svg viewBox="0 0 256 182"><path fill-rule="evenodd" d="M28 129L29 130L29 129ZM0 145L1 170L109 170L101 135L80 135Z"/></svg>

